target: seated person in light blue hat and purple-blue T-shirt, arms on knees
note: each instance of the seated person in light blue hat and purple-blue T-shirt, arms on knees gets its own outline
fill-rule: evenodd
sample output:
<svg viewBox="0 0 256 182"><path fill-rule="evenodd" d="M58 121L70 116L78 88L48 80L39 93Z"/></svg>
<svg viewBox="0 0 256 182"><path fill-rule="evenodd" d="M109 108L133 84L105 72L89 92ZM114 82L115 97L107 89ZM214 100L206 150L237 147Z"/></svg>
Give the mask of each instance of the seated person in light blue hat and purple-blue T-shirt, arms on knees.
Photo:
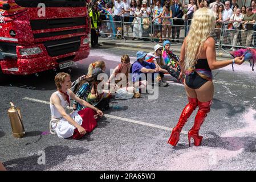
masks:
<svg viewBox="0 0 256 182"><path fill-rule="evenodd" d="M141 80L148 80L148 74L145 74L145 77L141 76L141 73L158 73L156 69L156 65L154 63L148 63L145 61L145 57L147 56L147 53L143 51L138 51L136 53L137 59L136 61L132 64L132 81L137 82ZM152 74L152 80L155 78ZM150 81L152 81L150 80Z"/></svg>

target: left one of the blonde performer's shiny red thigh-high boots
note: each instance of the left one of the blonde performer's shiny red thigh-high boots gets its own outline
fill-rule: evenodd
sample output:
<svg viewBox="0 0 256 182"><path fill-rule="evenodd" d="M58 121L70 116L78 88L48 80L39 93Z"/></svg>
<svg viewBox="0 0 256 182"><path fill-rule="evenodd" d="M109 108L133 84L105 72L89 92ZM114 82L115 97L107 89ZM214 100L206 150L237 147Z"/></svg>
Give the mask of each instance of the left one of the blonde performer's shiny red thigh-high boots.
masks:
<svg viewBox="0 0 256 182"><path fill-rule="evenodd" d="M176 146L178 143L178 140L180 140L180 133L182 130L182 127L185 125L185 122L188 121L188 118L192 114L193 110L197 107L197 98L190 98L188 97L189 103L184 107L180 119L178 119L178 123L176 127L172 130L172 134L170 135L170 138L168 140L168 143L172 146Z"/></svg>

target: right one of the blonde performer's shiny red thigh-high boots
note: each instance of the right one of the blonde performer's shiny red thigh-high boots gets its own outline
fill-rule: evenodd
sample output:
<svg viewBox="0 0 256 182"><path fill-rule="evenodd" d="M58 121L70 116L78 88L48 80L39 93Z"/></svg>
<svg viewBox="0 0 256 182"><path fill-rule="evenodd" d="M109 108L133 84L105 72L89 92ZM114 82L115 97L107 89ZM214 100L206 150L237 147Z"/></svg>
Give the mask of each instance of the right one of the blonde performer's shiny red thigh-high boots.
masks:
<svg viewBox="0 0 256 182"><path fill-rule="evenodd" d="M202 142L202 136L200 136L199 130L204 122L207 113L210 111L210 105L212 104L212 101L209 102L200 102L198 101L198 112L196 115L196 118L194 118L194 125L191 130L188 132L188 139L189 139L189 146L190 146L190 138L192 137L194 139L194 146L200 146Z"/></svg>

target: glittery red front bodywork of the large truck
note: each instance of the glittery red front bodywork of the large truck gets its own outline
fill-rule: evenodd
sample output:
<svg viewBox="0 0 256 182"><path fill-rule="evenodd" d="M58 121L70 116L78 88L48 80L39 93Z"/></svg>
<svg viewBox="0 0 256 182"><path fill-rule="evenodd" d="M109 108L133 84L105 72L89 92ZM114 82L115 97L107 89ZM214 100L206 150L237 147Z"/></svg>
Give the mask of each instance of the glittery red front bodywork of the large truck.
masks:
<svg viewBox="0 0 256 182"><path fill-rule="evenodd" d="M42 17L38 15L40 6L25 3L31 7L24 7L22 1L24 0L0 0L0 7L4 3L10 5L9 10L0 9L0 51L3 55L0 66L4 74L37 73L57 68L60 63L88 57L90 47L86 40L90 31L90 19L86 1L80 7L74 7L72 2L68 2L65 7L58 7L57 1L57 5L48 7L54 0L48 1L45 16ZM33 3L35 2L36 0ZM79 3L83 4L82 1ZM34 47L39 47L42 52L21 55L20 49Z"/></svg>

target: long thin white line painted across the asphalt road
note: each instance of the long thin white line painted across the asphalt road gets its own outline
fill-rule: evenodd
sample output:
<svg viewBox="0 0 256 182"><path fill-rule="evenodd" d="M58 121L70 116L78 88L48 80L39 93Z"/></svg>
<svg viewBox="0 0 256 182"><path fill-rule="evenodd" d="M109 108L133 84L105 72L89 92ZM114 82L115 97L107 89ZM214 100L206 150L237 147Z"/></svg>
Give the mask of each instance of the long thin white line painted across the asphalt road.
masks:
<svg viewBox="0 0 256 182"><path fill-rule="evenodd" d="M50 102L38 100L38 99L36 99L36 98L24 97L23 100L29 100L29 101L34 101L34 102L39 102L39 103L43 103L43 104L48 104L48 105L50 105ZM70 107L70 109L73 109L73 107ZM128 119L128 118L121 118L121 117L118 117L118 116L116 116L116 115L110 115L110 114L104 114L104 115L105 115L105 117L111 118L111 119L118 119L118 120L121 120L121 121L136 123L136 124L139 124L139 125L155 127L155 128L157 128L157 129L162 129L162 130L168 130L168 131L172 131L172 130L173 130L173 128L171 128L171 127L155 125L155 124L152 124L152 123L147 123L147 122L143 122L143 121L136 121L136 120ZM182 130L181 133L182 133L182 134L188 134L188 131Z"/></svg>

